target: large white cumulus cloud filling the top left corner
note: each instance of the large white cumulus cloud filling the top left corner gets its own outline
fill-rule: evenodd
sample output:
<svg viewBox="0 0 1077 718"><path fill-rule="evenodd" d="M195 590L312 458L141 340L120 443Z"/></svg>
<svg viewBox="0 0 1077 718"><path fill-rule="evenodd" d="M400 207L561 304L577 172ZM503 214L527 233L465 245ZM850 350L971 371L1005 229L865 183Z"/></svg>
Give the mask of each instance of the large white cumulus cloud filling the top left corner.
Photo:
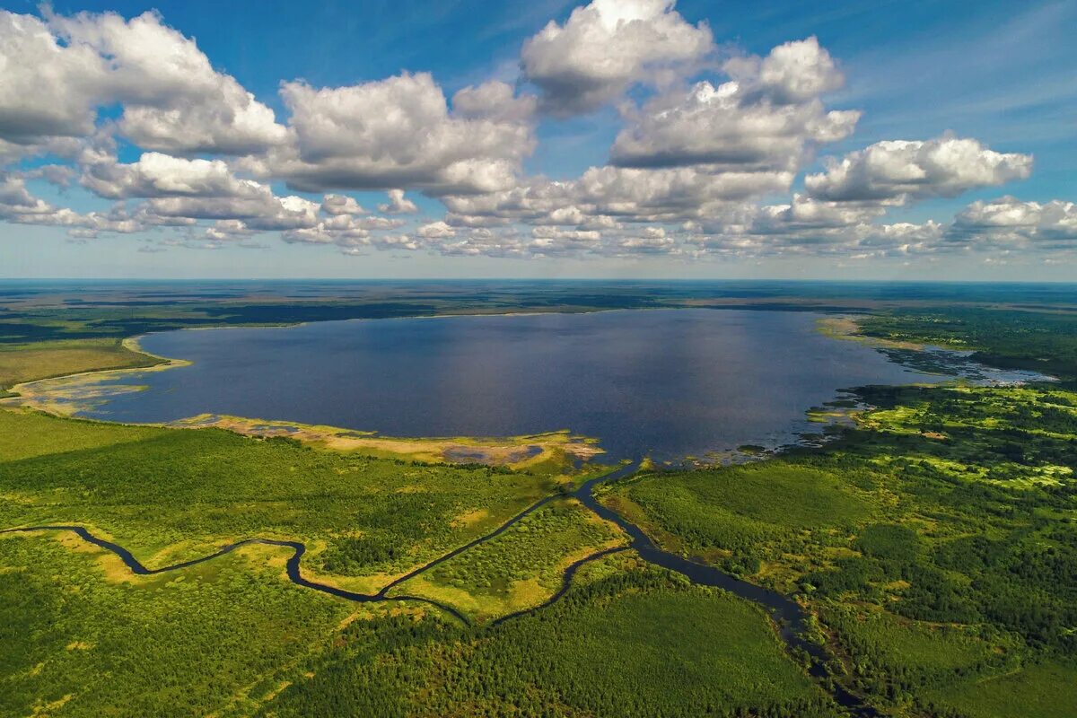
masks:
<svg viewBox="0 0 1077 718"><path fill-rule="evenodd" d="M5 140L88 136L99 108L117 102L120 131L149 150L241 154L286 135L269 108L152 12L129 20L0 12L0 76Z"/></svg>

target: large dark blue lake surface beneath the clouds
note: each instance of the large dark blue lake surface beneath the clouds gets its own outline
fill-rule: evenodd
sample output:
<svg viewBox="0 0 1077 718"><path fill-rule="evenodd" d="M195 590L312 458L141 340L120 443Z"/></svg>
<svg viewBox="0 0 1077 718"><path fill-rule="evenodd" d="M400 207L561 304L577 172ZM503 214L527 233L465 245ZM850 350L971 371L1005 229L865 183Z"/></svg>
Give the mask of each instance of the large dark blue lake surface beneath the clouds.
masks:
<svg viewBox="0 0 1077 718"><path fill-rule="evenodd" d="M671 309L169 332L142 346L191 366L110 380L146 390L82 416L210 412L387 436L568 428L612 459L672 460L819 431L805 411L844 388L946 378L825 337L821 316Z"/></svg>

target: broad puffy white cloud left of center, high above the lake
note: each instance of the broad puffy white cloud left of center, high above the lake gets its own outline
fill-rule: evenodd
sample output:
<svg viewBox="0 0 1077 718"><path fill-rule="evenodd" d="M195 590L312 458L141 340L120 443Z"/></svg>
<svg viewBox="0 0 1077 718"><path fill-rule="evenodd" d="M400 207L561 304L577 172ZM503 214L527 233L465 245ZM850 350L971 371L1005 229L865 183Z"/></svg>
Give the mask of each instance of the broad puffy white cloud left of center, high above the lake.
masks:
<svg viewBox="0 0 1077 718"><path fill-rule="evenodd" d="M285 83L292 141L249 166L308 192L501 189L515 182L534 147L530 113L490 104L488 95L503 93L465 91L457 113L429 73L320 89Z"/></svg>

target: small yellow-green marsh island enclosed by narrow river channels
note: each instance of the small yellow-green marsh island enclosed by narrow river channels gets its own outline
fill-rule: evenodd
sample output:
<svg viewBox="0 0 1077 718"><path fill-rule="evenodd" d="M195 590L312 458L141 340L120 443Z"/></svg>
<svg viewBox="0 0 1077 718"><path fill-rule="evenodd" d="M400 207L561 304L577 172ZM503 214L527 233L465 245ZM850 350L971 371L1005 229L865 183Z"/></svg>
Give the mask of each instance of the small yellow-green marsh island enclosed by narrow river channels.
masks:
<svg viewBox="0 0 1077 718"><path fill-rule="evenodd" d="M569 564L625 543L575 499L558 499L394 593L448 601L486 620L541 604L561 587Z"/></svg>

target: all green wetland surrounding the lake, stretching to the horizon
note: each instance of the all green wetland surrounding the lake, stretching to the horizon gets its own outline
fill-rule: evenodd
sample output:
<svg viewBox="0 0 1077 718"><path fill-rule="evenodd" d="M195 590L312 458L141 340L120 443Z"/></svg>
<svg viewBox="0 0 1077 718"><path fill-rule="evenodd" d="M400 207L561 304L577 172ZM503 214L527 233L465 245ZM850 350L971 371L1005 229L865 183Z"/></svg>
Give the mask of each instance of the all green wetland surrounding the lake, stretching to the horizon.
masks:
<svg viewBox="0 0 1077 718"><path fill-rule="evenodd" d="M601 489L606 506L667 550L795 599L827 657L825 675L810 675L806 656L749 601L631 550L577 565L628 541L570 495L609 468L564 450L567 434L405 447L233 417L163 427L5 408L0 529L85 526L151 568L244 538L302 541L304 576L372 595L391 586L390 596L451 611L296 586L281 547L247 545L139 576L70 533L0 534L0 715L1074 715L1077 312L1033 290L1001 308L752 291L682 287L655 301L826 305L855 311L873 338L966 349L1060 379L863 386L814 412L842 418L823 430L823 446L753 442L744 463L694 469L644 462ZM963 295L968 305L976 291ZM432 288L391 311L490 300L459 292ZM639 287L569 294L547 295L546 306L643 301ZM507 296L489 306L510 310ZM515 296L517 307L538 302L537 293ZM127 356L118 340L157 305L53 311L34 297L0 315L10 325L0 335L22 333L0 348L0 367L22 366L10 376L156 361ZM210 322L225 315L221 301L192 298L153 321ZM228 316L243 322L289 321L285 305L314 311L307 301L227 301L261 307L234 308ZM319 306L390 311L386 302L375 293ZM79 354L83 341L102 353ZM52 363L65 350L70 363ZM4 364L4 352L17 358ZM543 441L537 453L519 449Z"/></svg>

